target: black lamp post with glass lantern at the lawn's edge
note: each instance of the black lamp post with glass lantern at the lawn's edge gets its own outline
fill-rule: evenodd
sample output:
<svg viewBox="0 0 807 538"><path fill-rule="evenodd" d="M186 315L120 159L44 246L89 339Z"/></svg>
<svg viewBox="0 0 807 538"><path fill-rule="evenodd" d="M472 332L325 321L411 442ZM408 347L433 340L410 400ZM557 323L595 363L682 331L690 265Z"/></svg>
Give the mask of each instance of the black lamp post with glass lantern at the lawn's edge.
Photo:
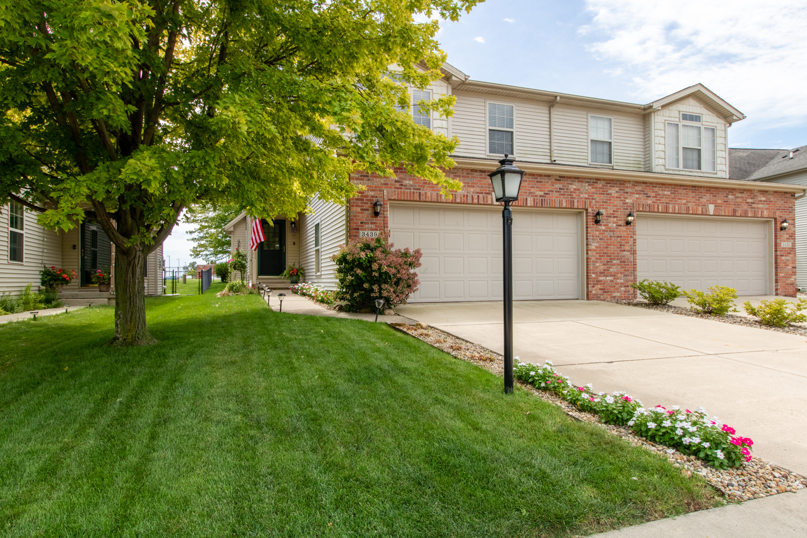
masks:
<svg viewBox="0 0 807 538"><path fill-rule="evenodd" d="M500 167L487 174L493 183L496 202L504 202L504 393L512 393L512 210L510 202L518 199L524 170L513 165L507 154L499 161Z"/></svg>

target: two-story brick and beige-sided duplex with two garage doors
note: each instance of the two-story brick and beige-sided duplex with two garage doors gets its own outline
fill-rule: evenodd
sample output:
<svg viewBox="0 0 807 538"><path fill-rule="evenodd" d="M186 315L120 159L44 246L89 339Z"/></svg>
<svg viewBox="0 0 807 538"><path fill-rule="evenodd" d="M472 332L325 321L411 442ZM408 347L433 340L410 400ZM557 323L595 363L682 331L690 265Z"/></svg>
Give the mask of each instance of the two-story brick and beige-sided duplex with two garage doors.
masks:
<svg viewBox="0 0 807 538"><path fill-rule="evenodd" d="M356 173L367 189L346 206L315 199L311 214L265 222L271 240L257 256L240 215L227 230L250 256L250 282L278 282L298 262L306 281L333 289L338 244L388 231L397 248L423 252L411 302L500 300L501 206L487 173L508 153L526 171L513 218L516 299L633 298L630 285L643 278L796 294L796 249L782 240L792 231L779 228L793 222L804 188L729 179L729 127L745 116L704 85L642 105L473 81L451 65L442 72L412 90L410 110L460 140L446 173L462 191L447 199L403 169L395 179ZM444 94L457 98L451 118L415 106Z"/></svg>

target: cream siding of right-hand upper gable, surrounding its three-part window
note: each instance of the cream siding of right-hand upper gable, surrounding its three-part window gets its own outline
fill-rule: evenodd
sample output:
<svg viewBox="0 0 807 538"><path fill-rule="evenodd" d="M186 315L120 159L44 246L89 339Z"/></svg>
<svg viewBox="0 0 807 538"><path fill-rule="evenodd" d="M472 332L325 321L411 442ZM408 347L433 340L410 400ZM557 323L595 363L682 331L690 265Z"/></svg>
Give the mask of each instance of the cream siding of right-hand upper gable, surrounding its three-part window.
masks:
<svg viewBox="0 0 807 538"><path fill-rule="evenodd" d="M681 122L681 113L700 115L700 124L715 128L715 167L717 172L703 170L667 169L667 122ZM725 119L717 116L695 98L685 98L654 113L655 172L684 176L727 177Z"/></svg>

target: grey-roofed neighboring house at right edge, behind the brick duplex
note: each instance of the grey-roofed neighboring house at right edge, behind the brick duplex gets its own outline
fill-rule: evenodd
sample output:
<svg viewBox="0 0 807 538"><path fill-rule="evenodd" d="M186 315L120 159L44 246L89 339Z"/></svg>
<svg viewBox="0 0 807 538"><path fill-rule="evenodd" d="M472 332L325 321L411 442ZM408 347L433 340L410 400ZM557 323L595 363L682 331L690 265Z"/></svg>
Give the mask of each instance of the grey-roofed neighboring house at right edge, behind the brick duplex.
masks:
<svg viewBox="0 0 807 538"><path fill-rule="evenodd" d="M807 186L807 146L795 149L729 148L731 179ZM797 283L807 290L807 197L796 198L795 218L781 240L796 247Z"/></svg>

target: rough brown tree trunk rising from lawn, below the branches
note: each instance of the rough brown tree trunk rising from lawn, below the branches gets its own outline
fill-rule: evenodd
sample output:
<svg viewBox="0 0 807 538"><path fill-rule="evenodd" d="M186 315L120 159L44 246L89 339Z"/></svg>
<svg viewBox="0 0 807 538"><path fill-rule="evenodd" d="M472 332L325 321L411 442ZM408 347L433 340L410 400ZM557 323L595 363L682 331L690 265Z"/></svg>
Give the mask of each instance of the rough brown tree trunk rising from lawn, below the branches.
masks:
<svg viewBox="0 0 807 538"><path fill-rule="evenodd" d="M115 338L112 344L155 344L146 327L142 245L115 249Z"/></svg>

